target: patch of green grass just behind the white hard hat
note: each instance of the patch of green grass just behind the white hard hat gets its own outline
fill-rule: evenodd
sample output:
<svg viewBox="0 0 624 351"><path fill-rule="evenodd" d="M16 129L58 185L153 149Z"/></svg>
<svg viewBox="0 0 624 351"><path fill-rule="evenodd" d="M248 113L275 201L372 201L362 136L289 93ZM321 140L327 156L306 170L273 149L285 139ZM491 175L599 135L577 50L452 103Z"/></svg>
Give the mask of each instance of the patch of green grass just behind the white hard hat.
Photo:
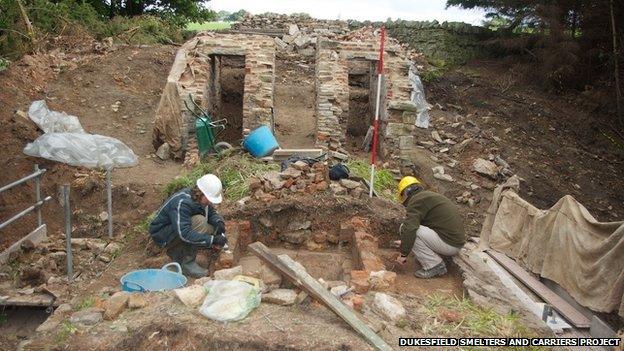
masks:
<svg viewBox="0 0 624 351"><path fill-rule="evenodd" d="M201 176L212 173L223 183L224 197L229 201L237 201L249 193L249 178L271 170L279 170L276 164L266 164L247 154L224 153L213 156L202 162L189 173L174 178L165 186L163 192L171 196L176 191L195 186Z"/></svg>

